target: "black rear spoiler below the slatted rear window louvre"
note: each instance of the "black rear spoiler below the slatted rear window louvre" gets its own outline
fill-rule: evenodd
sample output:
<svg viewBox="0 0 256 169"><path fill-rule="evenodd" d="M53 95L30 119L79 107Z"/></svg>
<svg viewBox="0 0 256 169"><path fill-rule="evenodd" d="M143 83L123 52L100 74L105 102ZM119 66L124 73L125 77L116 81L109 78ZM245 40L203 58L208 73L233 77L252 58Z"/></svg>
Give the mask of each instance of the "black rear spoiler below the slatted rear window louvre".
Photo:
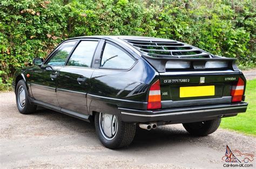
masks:
<svg viewBox="0 0 256 169"><path fill-rule="evenodd" d="M225 58L219 56L213 56L212 58L167 58L167 57L150 57L147 54L142 54L142 57L146 59L159 73L166 72L166 63L168 61L187 61L190 62L190 69L206 69L205 65L207 61L224 61L227 62L227 67L233 71L239 71L239 68L235 64L236 58Z"/></svg>

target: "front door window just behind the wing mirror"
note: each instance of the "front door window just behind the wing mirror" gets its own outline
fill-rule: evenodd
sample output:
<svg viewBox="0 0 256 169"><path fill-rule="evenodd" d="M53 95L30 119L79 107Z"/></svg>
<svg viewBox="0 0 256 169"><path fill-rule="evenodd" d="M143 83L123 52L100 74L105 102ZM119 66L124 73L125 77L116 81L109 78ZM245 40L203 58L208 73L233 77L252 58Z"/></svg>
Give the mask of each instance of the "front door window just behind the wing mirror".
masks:
<svg viewBox="0 0 256 169"><path fill-rule="evenodd" d="M68 58L76 42L77 41L70 41L62 44L62 46L60 46L58 50L55 53L53 53L52 57L46 63L46 65L64 66L66 58Z"/></svg>

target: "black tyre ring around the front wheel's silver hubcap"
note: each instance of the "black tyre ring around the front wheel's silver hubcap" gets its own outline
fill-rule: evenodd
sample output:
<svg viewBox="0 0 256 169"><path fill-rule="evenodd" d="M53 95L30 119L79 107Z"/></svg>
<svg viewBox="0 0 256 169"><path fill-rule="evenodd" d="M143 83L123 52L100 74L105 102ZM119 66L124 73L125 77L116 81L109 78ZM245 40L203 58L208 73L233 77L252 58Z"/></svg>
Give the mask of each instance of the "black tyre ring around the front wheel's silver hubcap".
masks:
<svg viewBox="0 0 256 169"><path fill-rule="evenodd" d="M19 90L19 87L23 86L24 90L25 90L25 105L24 107L20 107L19 105L19 101L18 101L18 90ZM18 81L17 83L17 86L16 86L16 90L15 90L15 94L16 94L16 104L17 104L17 108L19 110L19 112L21 112L22 114L25 114L26 112L26 109L28 107L28 103L29 103L29 100L28 100L28 90L26 89L26 83L24 80L20 80Z"/></svg>

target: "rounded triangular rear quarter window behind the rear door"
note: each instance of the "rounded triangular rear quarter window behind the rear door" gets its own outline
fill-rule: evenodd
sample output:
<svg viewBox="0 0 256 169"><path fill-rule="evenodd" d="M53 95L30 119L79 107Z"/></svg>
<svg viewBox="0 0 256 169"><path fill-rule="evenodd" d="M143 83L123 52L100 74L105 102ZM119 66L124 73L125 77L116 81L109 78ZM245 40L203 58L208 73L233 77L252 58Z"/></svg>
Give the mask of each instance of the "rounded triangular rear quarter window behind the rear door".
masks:
<svg viewBox="0 0 256 169"><path fill-rule="evenodd" d="M129 69L134 62L135 60L125 52L116 46L106 43L102 60L100 61L100 68Z"/></svg>

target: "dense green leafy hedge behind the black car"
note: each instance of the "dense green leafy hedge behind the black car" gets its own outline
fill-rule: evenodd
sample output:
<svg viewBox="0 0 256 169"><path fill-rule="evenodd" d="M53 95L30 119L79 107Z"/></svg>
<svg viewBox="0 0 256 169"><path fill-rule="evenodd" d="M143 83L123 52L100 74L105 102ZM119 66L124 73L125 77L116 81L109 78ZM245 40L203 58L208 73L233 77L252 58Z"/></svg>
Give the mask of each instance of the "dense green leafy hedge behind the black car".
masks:
<svg viewBox="0 0 256 169"><path fill-rule="evenodd" d="M60 41L95 34L169 38L255 67L254 0L2 0L0 90Z"/></svg>

